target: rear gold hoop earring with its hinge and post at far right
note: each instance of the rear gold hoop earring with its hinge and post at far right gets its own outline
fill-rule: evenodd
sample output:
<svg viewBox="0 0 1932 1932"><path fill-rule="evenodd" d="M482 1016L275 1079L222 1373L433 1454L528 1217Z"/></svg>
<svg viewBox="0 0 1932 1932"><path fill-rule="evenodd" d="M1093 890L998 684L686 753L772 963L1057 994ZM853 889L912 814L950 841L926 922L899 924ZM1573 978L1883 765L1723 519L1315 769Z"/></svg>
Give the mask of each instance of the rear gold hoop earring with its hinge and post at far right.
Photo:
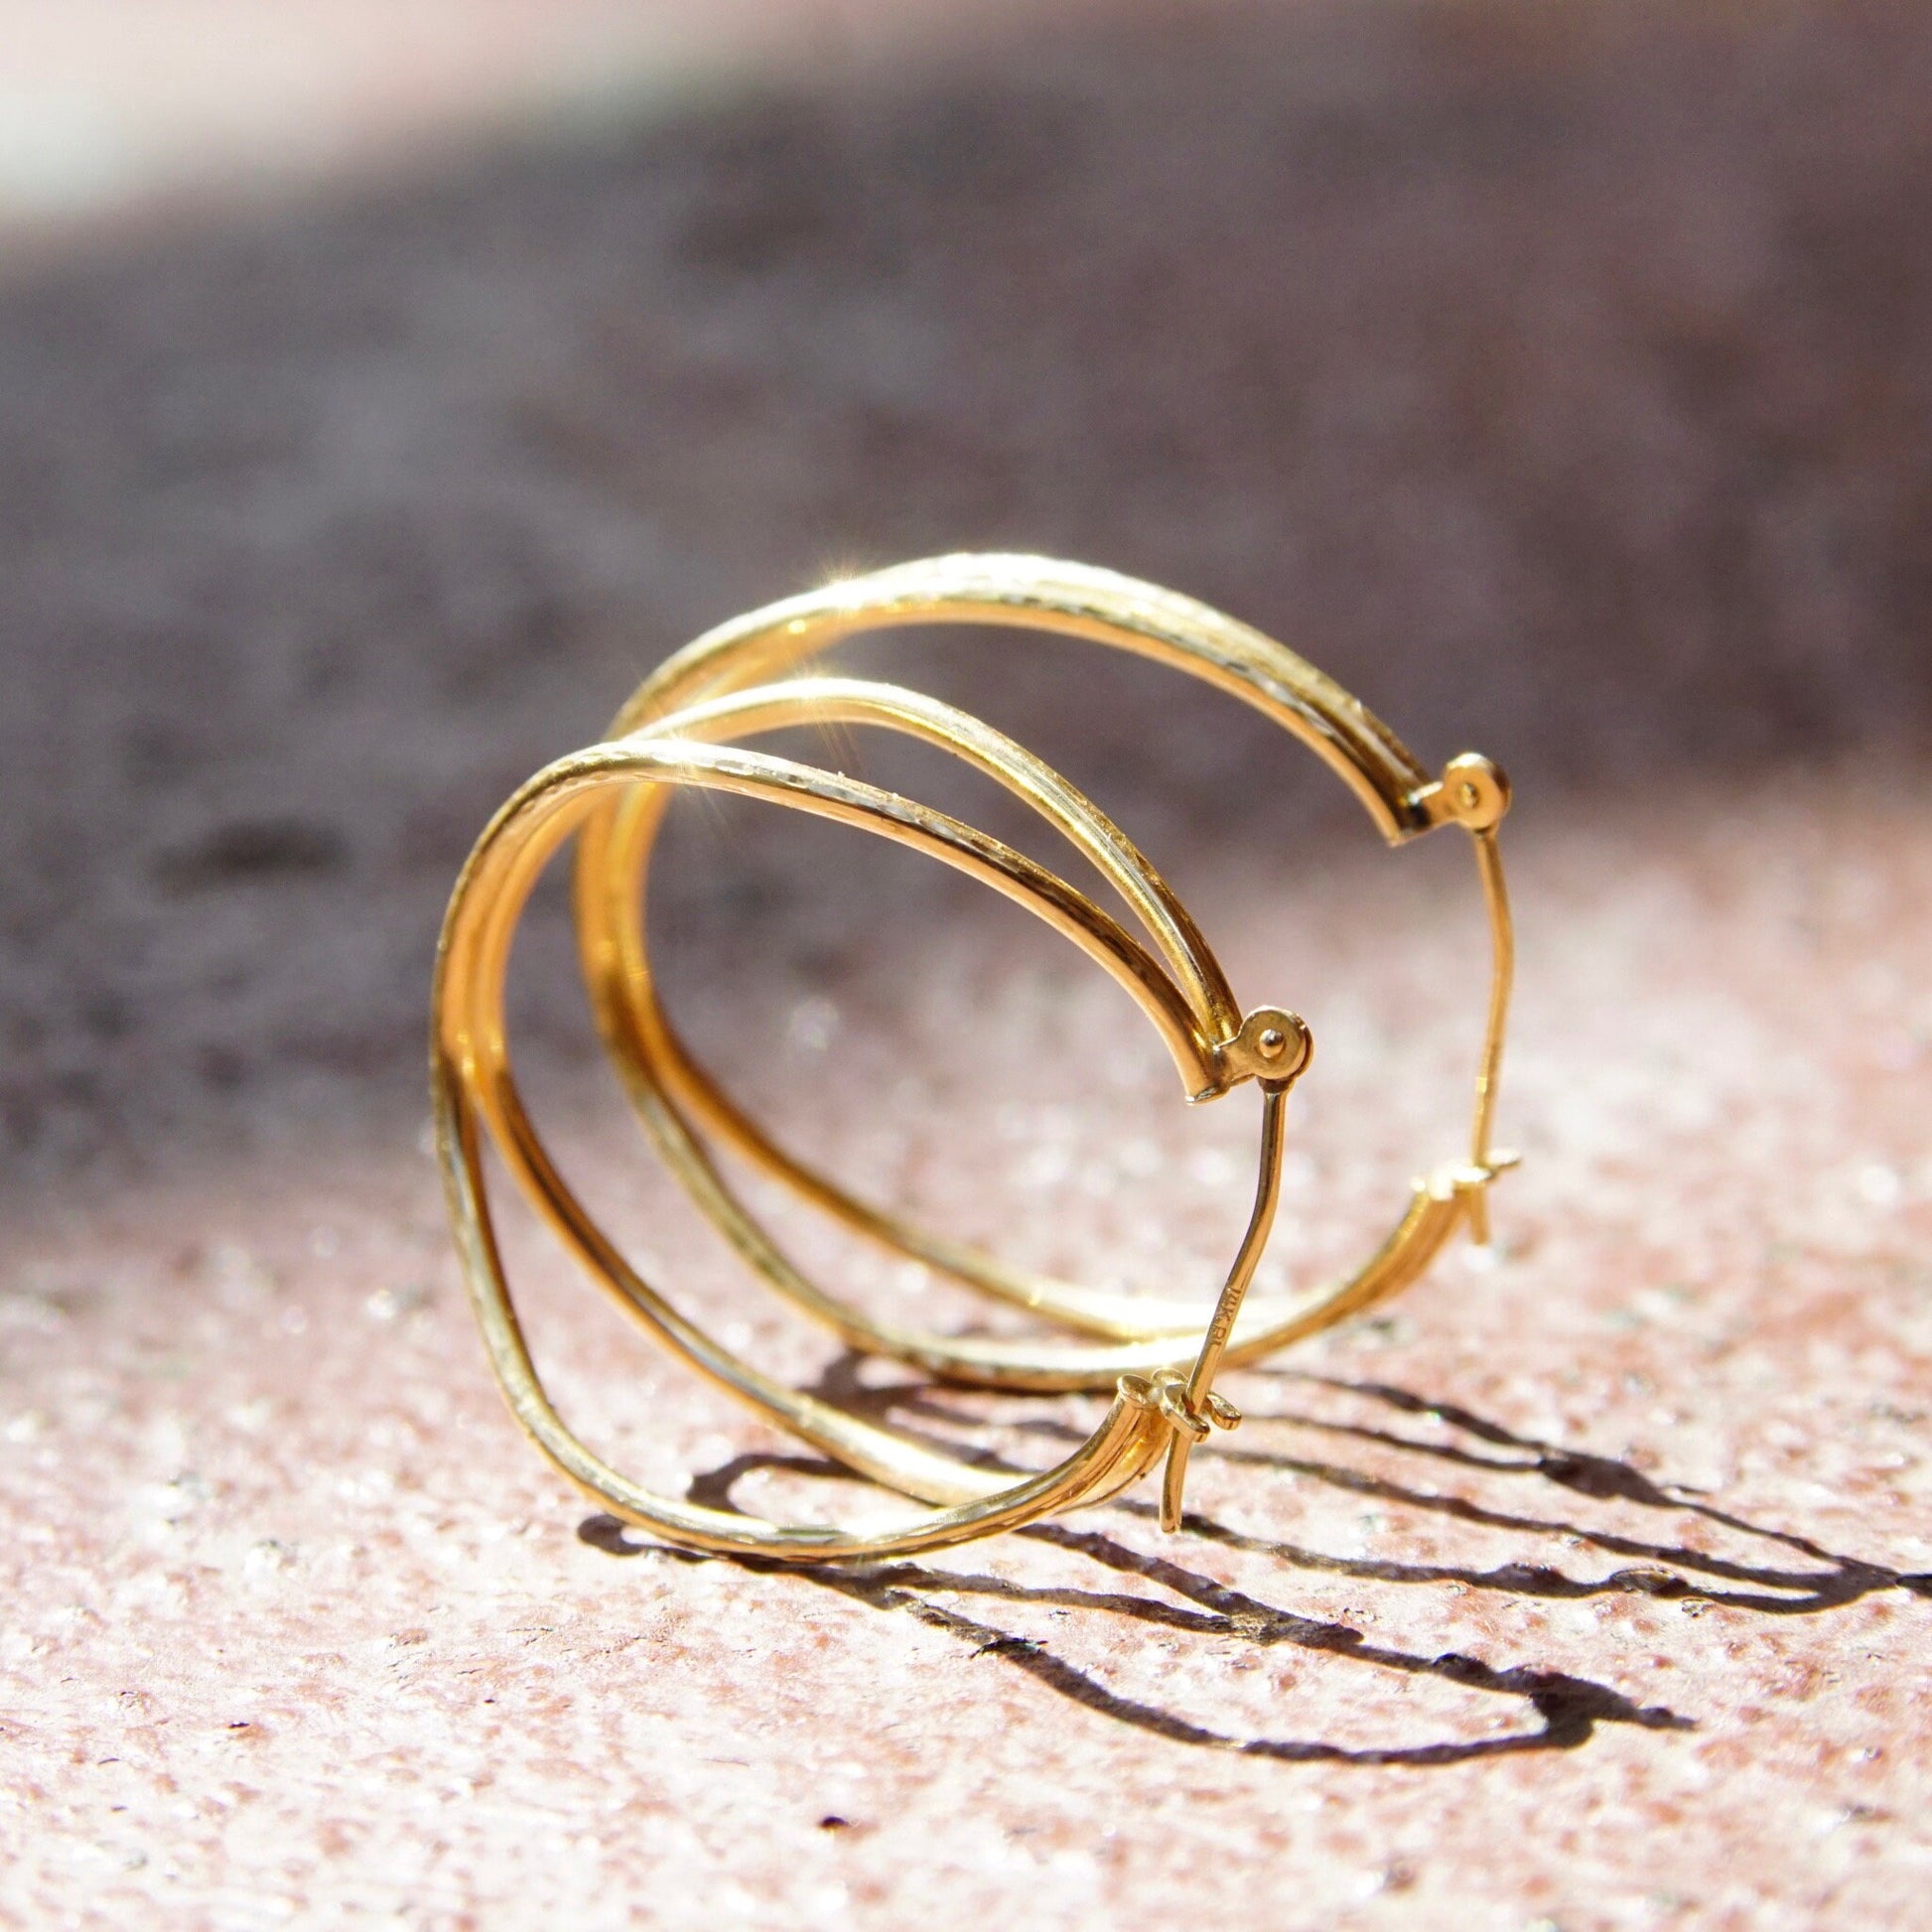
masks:
<svg viewBox="0 0 1932 1932"><path fill-rule="evenodd" d="M1439 823L1464 823L1470 829L1482 866L1492 931L1490 1024L1476 1078L1472 1159L1468 1167L1445 1169L1418 1180L1393 1233L1356 1273L1293 1296L1250 1298L1236 1341L1238 1358L1254 1360L1385 1300L1428 1269L1464 1219L1470 1233L1486 1240L1488 1180L1509 1165L1507 1157L1492 1161L1488 1153L1488 1119L1513 972L1513 935L1507 896L1501 891L1501 856L1495 846L1495 825L1509 804L1501 773L1488 759L1466 755L1451 761L1443 782L1426 781L1412 753L1387 726L1331 680L1260 632L1194 599L1113 572L1028 556L935 558L784 599L709 632L668 659L624 707L618 724L651 715L659 705L692 692L728 692L750 674L782 670L800 657L823 649L829 639L856 630L925 620L1037 624L1173 663L1236 690L1314 744L1329 763L1343 755L1337 748L1345 748L1358 792L1379 798L1383 806L1391 798L1406 800L1403 808L1406 817L1399 817L1393 808L1385 813L1372 806L1378 823L1383 823L1391 838L1414 837L1418 829ZM1293 701L1285 701L1283 692L1289 692ZM910 701L912 694L904 697ZM752 717L765 705L769 699L759 697L738 715ZM692 715L690 705L676 713L680 721ZM697 699L697 715L728 717L732 699ZM964 715L951 713L951 717ZM881 723L881 719L869 721ZM985 726L978 728L985 732ZM947 738L922 734L970 757ZM1010 740L1001 742L1010 746ZM981 763L980 769L989 767ZM997 769L991 775L1009 782ZM1016 790L1010 782L1009 788ZM1190 1302L1113 1294L1053 1281L1009 1267L968 1244L931 1235L912 1221L848 1196L779 1148L723 1094L678 1039L655 997L643 941L643 883L661 811L661 796L634 796L607 810L585 829L578 866L580 949L591 1001L634 1103L661 1146L674 1132L665 1119L668 1095L668 1109L682 1115L680 1132L688 1134L696 1119L769 1177L856 1233L966 1287L1034 1310L1066 1327L1115 1341L1155 1343L1153 1349L1128 1350L1066 1347L1028 1350L1026 1345L956 1343L943 1350L952 1358L951 1368L941 1366L941 1358L929 1347L904 1356L927 1370L1003 1387L1103 1387L1122 1370L1169 1360L1175 1352L1169 1343L1184 1341L1198 1331L1200 1312ZM665 1151L668 1157L668 1148ZM846 1339L854 1339L854 1331L866 1327L866 1318L848 1310L848 1320L838 1325ZM885 1352L902 1350L887 1347Z"/></svg>

